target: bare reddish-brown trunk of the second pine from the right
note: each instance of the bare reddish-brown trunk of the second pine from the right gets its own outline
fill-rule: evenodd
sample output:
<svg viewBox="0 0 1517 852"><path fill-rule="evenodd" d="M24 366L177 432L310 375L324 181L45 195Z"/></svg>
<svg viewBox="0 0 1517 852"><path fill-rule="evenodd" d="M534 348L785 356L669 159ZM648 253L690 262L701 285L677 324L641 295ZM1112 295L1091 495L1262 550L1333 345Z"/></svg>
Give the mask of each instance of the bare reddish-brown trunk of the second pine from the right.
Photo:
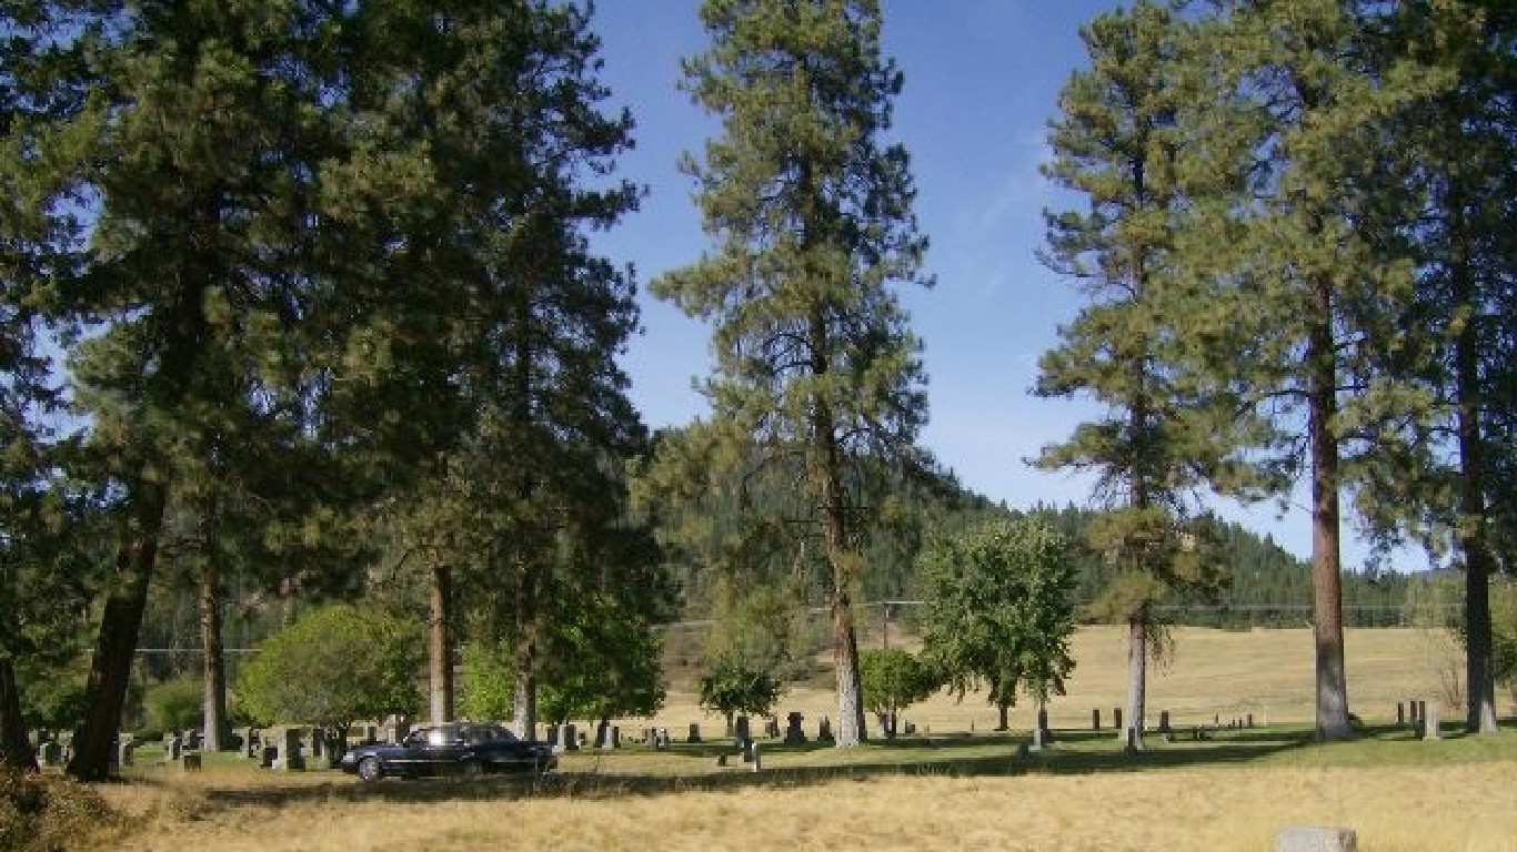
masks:
<svg viewBox="0 0 1517 852"><path fill-rule="evenodd" d="M1343 650L1343 578L1338 505L1336 347L1332 332L1332 293L1326 280L1312 282L1308 330L1308 440L1312 461L1312 635L1317 649L1317 737L1349 740L1349 684Z"/></svg>

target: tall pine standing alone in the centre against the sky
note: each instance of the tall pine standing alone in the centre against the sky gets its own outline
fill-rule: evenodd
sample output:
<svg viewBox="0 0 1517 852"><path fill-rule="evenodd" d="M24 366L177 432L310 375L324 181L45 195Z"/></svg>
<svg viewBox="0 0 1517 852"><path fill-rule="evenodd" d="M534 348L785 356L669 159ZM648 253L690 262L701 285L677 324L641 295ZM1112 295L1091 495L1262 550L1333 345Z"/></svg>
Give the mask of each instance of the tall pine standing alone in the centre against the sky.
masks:
<svg viewBox="0 0 1517 852"><path fill-rule="evenodd" d="M707 52L684 88L722 133L696 179L715 253L652 290L713 326L708 478L755 465L798 475L790 520L818 531L827 569L837 744L863 735L853 597L863 570L868 461L919 461L918 344L895 285L922 282L906 150L881 141L901 88L872 0L710 0ZM743 479L736 476L734 479ZM799 526L798 525L798 526Z"/></svg>

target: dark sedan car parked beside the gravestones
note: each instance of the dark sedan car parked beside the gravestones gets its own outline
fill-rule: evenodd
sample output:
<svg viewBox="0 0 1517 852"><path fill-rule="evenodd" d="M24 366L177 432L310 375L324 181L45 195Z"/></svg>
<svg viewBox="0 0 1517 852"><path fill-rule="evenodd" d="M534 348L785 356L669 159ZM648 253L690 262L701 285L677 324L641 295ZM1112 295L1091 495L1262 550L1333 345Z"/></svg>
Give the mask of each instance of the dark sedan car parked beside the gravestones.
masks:
<svg viewBox="0 0 1517 852"><path fill-rule="evenodd" d="M458 722L420 728L399 744L375 743L349 749L341 769L363 781L379 781L387 775L542 773L557 763L548 746L520 740L501 725Z"/></svg>

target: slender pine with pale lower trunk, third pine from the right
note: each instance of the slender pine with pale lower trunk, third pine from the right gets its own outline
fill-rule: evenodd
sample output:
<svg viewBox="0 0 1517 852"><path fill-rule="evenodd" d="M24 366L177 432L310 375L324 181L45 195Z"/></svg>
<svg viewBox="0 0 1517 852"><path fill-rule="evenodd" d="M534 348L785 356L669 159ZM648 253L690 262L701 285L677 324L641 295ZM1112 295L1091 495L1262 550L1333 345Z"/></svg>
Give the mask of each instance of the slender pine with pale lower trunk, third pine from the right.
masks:
<svg viewBox="0 0 1517 852"><path fill-rule="evenodd" d="M1091 299L1044 353L1036 393L1088 394L1106 414L1044 447L1041 467L1091 471L1109 506L1088 528L1110 562L1103 616L1127 625L1127 731L1142 747L1147 662L1161 626L1153 606L1171 588L1215 588L1208 562L1177 558L1186 496L1203 476L1235 473L1217 438L1252 424L1223 394L1208 397L1174 368L1183 335L1173 320L1194 309L1176 274L1177 220L1188 199L1179 173L1185 129L1186 24L1157 3L1098 15L1080 30L1089 68L1059 99L1044 171L1085 199L1047 212L1045 262ZM1233 485L1238 485L1233 482ZM1004 700L1004 696L1003 696ZM1004 708L1004 705L1003 705Z"/></svg>

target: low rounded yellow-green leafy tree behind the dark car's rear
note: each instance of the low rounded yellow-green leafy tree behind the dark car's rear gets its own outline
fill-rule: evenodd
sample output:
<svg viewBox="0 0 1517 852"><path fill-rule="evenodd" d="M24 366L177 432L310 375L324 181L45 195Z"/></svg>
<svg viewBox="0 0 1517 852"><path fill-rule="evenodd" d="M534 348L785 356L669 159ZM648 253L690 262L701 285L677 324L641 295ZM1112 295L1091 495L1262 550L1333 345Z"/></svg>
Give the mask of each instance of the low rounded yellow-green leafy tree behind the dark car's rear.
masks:
<svg viewBox="0 0 1517 852"><path fill-rule="evenodd" d="M416 622L335 603L269 637L241 666L237 691L259 723L346 732L360 719L416 716L423 661Z"/></svg>

